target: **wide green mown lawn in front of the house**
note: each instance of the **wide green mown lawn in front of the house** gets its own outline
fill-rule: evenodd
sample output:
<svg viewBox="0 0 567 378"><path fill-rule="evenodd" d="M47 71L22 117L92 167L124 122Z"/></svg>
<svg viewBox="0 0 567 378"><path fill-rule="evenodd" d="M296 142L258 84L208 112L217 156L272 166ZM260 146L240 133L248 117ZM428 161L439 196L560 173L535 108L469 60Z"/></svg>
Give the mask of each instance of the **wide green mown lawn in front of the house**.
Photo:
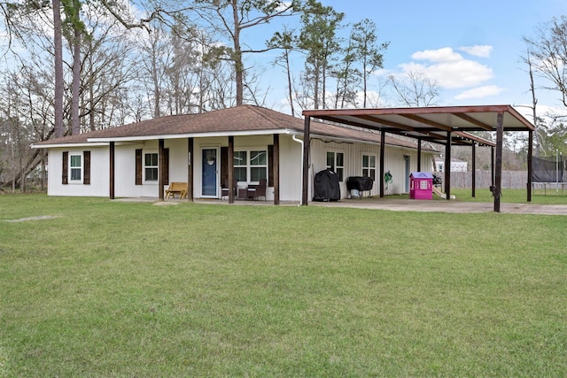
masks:
<svg viewBox="0 0 567 378"><path fill-rule="evenodd" d="M566 225L0 196L0 376L566 376Z"/></svg>

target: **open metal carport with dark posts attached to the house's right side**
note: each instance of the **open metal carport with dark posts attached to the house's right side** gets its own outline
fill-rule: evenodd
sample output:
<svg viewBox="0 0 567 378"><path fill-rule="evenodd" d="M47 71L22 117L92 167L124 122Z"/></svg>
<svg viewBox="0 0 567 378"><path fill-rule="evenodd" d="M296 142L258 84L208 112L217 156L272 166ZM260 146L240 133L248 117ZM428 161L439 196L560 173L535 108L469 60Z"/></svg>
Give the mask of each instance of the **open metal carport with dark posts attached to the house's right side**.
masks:
<svg viewBox="0 0 567 378"><path fill-rule="evenodd" d="M377 108L377 109L323 109L303 111L305 117L303 138L303 192L302 204L308 200L309 150L311 119L329 121L346 127L361 127L379 131L381 135L380 176L384 177L384 144L386 133L416 138L418 157L421 157L421 142L440 143L446 146L445 166L451 166L451 145L468 144L474 148L479 143L489 145L487 141L470 135L471 131L489 131L496 133L493 162L494 212L501 207L502 144L505 131L528 132L528 172L527 201L532 201L532 148L535 127L511 105L480 106L433 106L415 108ZM494 156L494 154L493 154ZM418 158L418 169L421 161ZM473 168L474 172L474 168ZM445 192L447 200L451 193L451 175L446 174ZM380 197L384 197L384 180L380 180Z"/></svg>

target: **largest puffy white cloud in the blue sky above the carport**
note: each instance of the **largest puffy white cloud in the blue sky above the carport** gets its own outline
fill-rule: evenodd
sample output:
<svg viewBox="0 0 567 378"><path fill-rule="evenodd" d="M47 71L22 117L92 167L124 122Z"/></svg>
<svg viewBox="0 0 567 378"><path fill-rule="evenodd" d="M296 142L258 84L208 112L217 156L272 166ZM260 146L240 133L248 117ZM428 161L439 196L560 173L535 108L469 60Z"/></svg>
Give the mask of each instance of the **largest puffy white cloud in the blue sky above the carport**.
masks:
<svg viewBox="0 0 567 378"><path fill-rule="evenodd" d="M454 52L450 47L417 51L412 58L426 62L400 65L405 73L424 73L446 89L476 87L493 78L492 68L481 65L475 60L462 58L461 54Z"/></svg>

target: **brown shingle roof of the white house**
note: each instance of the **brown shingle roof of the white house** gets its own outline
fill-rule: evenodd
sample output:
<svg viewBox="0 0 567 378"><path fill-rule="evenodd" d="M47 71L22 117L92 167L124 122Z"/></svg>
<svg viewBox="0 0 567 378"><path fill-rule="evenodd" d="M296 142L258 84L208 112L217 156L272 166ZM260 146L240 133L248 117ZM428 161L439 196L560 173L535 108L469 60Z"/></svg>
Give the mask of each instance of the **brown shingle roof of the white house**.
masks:
<svg viewBox="0 0 567 378"><path fill-rule="evenodd" d="M362 131L348 127L338 127L320 122L311 122L311 134L327 136L331 138L347 139L353 141L365 141L380 143L380 135L369 131ZM58 144L77 144L108 142L109 140L158 139L167 136L175 138L175 135L210 135L231 133L259 133L276 134L285 130L303 132L304 120L292 117L282 112L276 112L267 108L253 105L243 105L233 108L222 109L214 112L189 115L172 115L160 117L154 120L143 120L128 125L92 131L81 135L69 135L58 139L35 143L35 146L51 146ZM388 136L386 144L398 145L408 148L416 148L416 143Z"/></svg>

